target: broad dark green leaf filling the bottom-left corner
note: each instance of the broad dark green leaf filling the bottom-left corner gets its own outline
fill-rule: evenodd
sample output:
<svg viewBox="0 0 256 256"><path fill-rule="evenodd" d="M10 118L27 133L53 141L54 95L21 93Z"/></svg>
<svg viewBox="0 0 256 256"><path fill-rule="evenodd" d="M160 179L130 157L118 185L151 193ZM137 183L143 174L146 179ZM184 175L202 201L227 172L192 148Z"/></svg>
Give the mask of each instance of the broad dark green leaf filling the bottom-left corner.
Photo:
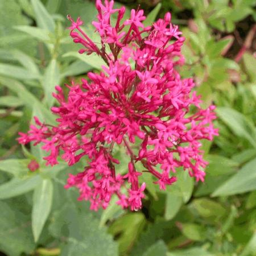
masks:
<svg viewBox="0 0 256 256"><path fill-rule="evenodd" d="M0 251L5 255L29 255L34 250L29 216L0 201Z"/></svg>

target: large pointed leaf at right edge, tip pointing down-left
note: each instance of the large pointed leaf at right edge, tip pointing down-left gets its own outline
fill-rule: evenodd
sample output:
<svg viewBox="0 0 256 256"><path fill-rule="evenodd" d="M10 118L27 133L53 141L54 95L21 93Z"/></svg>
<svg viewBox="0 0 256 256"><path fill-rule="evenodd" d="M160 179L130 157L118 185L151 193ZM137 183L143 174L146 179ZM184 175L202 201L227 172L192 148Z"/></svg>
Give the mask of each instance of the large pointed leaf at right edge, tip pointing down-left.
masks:
<svg viewBox="0 0 256 256"><path fill-rule="evenodd" d="M256 189L256 158L245 164L237 174L217 188L212 196L230 196L254 189Z"/></svg>

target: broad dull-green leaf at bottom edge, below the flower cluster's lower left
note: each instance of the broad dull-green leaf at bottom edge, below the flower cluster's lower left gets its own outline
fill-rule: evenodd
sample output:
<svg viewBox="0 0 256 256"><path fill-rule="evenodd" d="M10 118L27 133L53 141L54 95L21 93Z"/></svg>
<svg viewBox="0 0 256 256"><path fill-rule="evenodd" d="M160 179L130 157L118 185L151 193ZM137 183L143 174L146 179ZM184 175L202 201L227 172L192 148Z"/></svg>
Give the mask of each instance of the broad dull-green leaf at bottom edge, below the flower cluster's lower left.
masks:
<svg viewBox="0 0 256 256"><path fill-rule="evenodd" d="M61 256L118 255L117 244L106 228L99 228L94 215L89 209L80 212L72 200L53 213L49 232L56 238L64 238Z"/></svg>

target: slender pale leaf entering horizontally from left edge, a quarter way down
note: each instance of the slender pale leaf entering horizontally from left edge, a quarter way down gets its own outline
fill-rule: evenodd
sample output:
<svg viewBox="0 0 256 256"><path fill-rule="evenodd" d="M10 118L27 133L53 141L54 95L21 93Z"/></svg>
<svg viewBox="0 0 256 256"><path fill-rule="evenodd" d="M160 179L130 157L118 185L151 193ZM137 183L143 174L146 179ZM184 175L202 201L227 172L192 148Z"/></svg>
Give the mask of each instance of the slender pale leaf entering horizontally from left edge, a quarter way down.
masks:
<svg viewBox="0 0 256 256"><path fill-rule="evenodd" d="M13 77L15 79L39 79L39 74L33 73L28 69L10 64L0 63L0 75Z"/></svg>

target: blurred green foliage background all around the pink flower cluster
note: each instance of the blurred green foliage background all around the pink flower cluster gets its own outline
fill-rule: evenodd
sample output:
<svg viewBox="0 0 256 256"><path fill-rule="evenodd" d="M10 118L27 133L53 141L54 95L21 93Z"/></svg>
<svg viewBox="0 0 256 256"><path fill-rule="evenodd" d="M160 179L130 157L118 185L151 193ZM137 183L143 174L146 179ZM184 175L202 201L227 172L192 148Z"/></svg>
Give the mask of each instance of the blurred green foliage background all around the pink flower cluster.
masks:
<svg viewBox="0 0 256 256"><path fill-rule="evenodd" d="M139 212L114 201L92 212L77 201L77 191L63 185L83 163L46 167L40 146L21 147L16 137L33 115L54 121L49 107L55 85L98 72L100 60L79 55L66 29L67 14L81 16L97 42L94 1L0 0L0 255L256 255L256 1L116 5L141 5L150 22L171 11L183 32L186 63L180 72L195 79L204 106L217 106L220 136L203 141L205 182L181 173L167 191L152 185ZM126 168L125 152L116 154ZM39 165L34 171L28 169L31 160Z"/></svg>

